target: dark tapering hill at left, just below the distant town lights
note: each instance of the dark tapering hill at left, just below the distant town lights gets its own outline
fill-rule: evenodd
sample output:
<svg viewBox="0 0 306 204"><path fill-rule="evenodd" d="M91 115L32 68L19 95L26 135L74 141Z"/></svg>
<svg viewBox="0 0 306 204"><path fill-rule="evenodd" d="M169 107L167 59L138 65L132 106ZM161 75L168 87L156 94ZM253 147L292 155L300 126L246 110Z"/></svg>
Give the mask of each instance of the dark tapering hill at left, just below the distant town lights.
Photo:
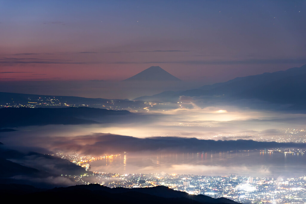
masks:
<svg viewBox="0 0 306 204"><path fill-rule="evenodd" d="M115 116L129 115L129 111L114 111L89 107L67 108L1 108L0 128L34 125L96 124L96 121Z"/></svg>

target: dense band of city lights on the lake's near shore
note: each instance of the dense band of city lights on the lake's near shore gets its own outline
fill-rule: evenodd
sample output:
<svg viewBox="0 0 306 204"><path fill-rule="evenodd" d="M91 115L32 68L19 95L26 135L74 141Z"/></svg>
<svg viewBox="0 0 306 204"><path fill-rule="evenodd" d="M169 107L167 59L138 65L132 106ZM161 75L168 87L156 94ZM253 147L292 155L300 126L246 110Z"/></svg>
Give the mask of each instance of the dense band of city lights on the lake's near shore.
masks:
<svg viewBox="0 0 306 204"><path fill-rule="evenodd" d="M295 178L260 178L246 176L201 176L183 174L119 174L94 172L75 177L83 184L95 183L110 188L144 188L164 185L194 195L225 197L241 203L279 203L285 200L306 202L306 176Z"/></svg>

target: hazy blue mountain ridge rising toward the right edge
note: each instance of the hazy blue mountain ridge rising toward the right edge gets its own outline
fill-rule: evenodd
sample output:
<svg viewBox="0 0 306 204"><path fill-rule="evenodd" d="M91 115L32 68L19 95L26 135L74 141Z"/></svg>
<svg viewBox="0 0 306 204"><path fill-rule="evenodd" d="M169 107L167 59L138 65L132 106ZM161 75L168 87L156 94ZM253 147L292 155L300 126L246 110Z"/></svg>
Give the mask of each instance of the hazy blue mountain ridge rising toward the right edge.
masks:
<svg viewBox="0 0 306 204"><path fill-rule="evenodd" d="M237 77L223 83L202 86L199 89L167 91L135 100L176 102L180 96L218 96L218 100L259 99L271 103L292 104L306 108L306 65L286 71Z"/></svg>

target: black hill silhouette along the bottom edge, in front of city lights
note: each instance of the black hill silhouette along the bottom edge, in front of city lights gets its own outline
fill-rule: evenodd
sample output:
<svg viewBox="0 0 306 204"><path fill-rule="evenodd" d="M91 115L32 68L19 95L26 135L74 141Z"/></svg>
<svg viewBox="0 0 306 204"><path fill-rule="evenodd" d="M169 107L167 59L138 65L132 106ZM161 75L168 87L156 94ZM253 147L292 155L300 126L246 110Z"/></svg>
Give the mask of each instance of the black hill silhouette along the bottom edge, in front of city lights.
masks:
<svg viewBox="0 0 306 204"><path fill-rule="evenodd" d="M77 185L51 190L34 188L28 185L2 184L0 185L2 198L28 201L48 202L103 202L103 203L230 203L238 204L230 199L214 199L206 195L189 195L181 191L174 191L165 186L152 188L108 188L99 184Z"/></svg>

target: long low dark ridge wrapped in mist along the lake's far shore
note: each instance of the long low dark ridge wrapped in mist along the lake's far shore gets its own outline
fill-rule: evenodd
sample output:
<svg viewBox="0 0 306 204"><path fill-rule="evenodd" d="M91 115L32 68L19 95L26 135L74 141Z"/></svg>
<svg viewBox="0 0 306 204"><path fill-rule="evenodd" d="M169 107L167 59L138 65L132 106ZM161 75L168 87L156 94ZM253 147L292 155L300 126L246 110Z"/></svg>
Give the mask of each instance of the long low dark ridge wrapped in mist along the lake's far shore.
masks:
<svg viewBox="0 0 306 204"><path fill-rule="evenodd" d="M48 139L47 139L48 140ZM47 148L78 152L81 155L104 155L120 152L219 152L268 148L305 148L302 143L258 142L254 140L199 140L184 137L137 138L121 135L87 135L49 139Z"/></svg>

